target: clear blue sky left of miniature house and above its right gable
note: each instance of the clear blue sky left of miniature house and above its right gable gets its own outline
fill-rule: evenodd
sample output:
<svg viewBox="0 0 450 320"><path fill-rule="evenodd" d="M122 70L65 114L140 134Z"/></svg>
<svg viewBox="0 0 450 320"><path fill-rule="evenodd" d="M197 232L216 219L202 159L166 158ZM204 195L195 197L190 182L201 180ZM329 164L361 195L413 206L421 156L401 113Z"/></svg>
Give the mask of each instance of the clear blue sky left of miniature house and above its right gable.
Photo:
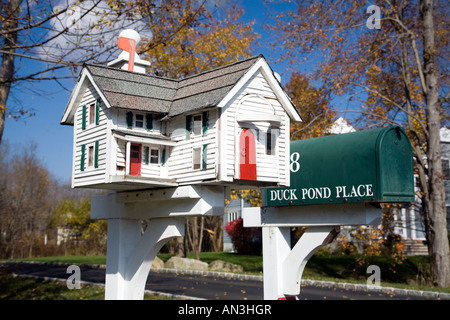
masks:
<svg viewBox="0 0 450 320"><path fill-rule="evenodd" d="M260 45L254 48L254 54L262 53L275 72L283 74L286 66L274 63L278 58L276 52L265 44L270 35L261 26L270 21L268 9L260 1L243 0L245 8L244 21L256 20L255 31L262 34ZM33 68L34 61L28 61L22 68ZM288 75L283 74L283 80ZM72 89L75 80L65 80L64 85ZM63 90L53 81L26 83L30 90L16 88L12 99L36 115L20 120L6 119L3 139L10 144L11 150L26 147L30 143L37 144L37 157L49 172L60 182L68 182L72 174L73 127L60 125L60 120L70 92Z"/></svg>

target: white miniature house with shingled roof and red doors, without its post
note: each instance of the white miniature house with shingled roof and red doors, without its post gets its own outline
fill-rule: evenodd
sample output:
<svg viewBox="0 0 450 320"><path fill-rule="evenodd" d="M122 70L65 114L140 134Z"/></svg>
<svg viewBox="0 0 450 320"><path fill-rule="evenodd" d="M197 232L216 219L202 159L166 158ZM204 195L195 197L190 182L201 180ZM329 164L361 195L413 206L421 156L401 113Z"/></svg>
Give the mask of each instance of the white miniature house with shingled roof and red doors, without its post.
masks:
<svg viewBox="0 0 450 320"><path fill-rule="evenodd" d="M148 64L83 66L61 120L74 126L73 187L289 185L301 118L263 56L178 80Z"/></svg>

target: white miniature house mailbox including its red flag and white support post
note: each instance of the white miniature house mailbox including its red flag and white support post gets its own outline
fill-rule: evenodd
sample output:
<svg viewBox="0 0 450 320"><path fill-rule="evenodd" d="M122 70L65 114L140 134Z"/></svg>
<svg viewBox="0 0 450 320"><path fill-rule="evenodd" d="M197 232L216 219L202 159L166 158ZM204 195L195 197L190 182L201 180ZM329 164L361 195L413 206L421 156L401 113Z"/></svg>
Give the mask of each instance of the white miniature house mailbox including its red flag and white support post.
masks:
<svg viewBox="0 0 450 320"><path fill-rule="evenodd" d="M107 299L142 299L152 261L187 215L223 215L225 188L289 186L300 115L259 55L184 79L145 74L122 31L108 66L85 64L61 123L73 125L72 187L108 219ZM141 235L141 219L151 219Z"/></svg>

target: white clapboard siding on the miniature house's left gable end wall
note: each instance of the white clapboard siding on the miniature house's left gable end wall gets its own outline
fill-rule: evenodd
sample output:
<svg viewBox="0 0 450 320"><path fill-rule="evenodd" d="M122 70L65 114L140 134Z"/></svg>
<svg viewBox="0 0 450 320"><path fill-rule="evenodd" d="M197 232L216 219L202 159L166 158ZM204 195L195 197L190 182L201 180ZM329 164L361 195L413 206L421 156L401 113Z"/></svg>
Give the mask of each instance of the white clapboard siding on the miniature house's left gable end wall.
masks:
<svg viewBox="0 0 450 320"><path fill-rule="evenodd" d="M73 186L87 186L92 184L102 183L105 180L105 172L107 166L107 108L100 101L99 104L99 121L98 124L89 124L86 119L86 128L82 129L83 105L86 105L86 118L88 118L89 105L95 103L99 99L99 95L92 85L89 85L81 99L81 102L75 113L75 146L74 146L74 170L73 170ZM88 150L89 146L95 147L95 142L98 141L98 167L88 167ZM85 145L84 155L84 171L81 171L81 146Z"/></svg>

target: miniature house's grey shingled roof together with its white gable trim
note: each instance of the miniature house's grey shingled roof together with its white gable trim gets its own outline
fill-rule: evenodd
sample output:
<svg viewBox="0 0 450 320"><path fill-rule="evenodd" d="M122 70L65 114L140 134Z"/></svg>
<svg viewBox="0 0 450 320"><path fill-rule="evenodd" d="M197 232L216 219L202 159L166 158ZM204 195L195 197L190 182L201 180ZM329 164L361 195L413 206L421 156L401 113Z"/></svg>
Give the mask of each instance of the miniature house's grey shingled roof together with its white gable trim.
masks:
<svg viewBox="0 0 450 320"><path fill-rule="evenodd" d="M80 80L61 120L73 124L80 90L94 85L108 108L127 108L175 117L213 106L224 106L246 81L261 70L293 120L299 121L295 107L273 75L262 55L181 80L155 77L96 65L85 65Z"/></svg>

